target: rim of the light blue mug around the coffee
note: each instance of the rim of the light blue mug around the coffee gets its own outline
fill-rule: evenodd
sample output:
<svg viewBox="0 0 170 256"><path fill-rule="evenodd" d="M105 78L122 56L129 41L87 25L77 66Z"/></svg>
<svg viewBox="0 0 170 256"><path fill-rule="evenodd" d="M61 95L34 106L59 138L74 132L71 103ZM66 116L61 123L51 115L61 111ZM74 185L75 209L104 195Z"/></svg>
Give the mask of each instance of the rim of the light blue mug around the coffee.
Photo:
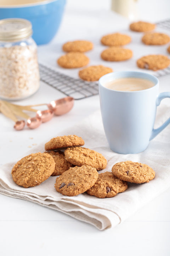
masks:
<svg viewBox="0 0 170 256"><path fill-rule="evenodd" d="M124 76L121 76L121 74L124 74ZM134 75L130 75L130 74L134 74ZM137 75L140 75L140 77L137 76ZM145 77L142 77L142 75L145 76ZM142 79L148 79L148 80L150 80L150 81L152 81L154 83L154 86L152 86L151 88L145 89L145 90L140 90L140 91L118 91L118 90L109 89L109 88L105 87L104 85L102 85L102 80L103 79L106 79L106 78L109 78L109 77L113 78L113 76L116 76L115 79L116 78L128 78L128 77L131 77L131 78L137 78L138 77L138 78L142 78ZM109 82L109 80L108 80L108 82ZM153 90L154 87L158 86L159 80L158 80L158 78L156 76L154 76L152 74L148 74L146 72L140 72L140 71L116 71L116 72L112 72L112 73L109 73L109 74L106 74L106 75L102 76L98 80L98 84L100 86L102 86L104 89L109 90L109 91L114 91L114 92L119 92L119 93L139 93L139 92L145 92L145 91L148 91L148 90Z"/></svg>

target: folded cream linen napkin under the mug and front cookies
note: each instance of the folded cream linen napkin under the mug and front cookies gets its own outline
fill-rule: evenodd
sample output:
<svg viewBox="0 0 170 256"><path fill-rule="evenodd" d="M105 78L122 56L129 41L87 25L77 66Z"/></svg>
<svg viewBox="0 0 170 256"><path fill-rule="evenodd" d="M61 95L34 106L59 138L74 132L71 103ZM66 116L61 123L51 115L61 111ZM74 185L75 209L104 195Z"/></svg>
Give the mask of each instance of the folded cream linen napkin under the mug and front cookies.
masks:
<svg viewBox="0 0 170 256"><path fill-rule="evenodd" d="M167 106L162 107L158 113L158 126L163 123L163 116L164 119L170 116ZM155 137L145 151L140 154L129 155L117 154L109 149L100 111L91 114L77 126L64 130L60 134L53 134L53 137L68 134L82 137L85 140L84 147L98 151L108 160L106 169L99 172L111 171L115 163L131 160L151 166L156 172L154 180L143 184L129 183L128 190L113 198L97 198L86 192L78 196L68 197L56 192L54 188L55 176L49 177L36 187L24 188L16 185L11 176L11 170L15 164L13 162L0 167L0 193L59 210L103 230L119 224L145 203L170 187L170 126ZM44 144L51 138L52 135L24 156L30 153L44 152Z"/></svg>

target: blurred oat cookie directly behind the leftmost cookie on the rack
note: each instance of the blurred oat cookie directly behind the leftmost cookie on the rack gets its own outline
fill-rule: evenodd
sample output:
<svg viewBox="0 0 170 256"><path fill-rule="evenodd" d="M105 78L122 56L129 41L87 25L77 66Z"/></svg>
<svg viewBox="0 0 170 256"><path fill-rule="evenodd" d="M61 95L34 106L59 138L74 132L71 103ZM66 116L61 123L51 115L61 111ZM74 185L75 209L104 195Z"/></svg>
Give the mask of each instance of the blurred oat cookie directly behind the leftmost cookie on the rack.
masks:
<svg viewBox="0 0 170 256"><path fill-rule="evenodd" d="M64 52L87 52L91 49L93 49L93 44L85 40L77 40L63 44Z"/></svg>

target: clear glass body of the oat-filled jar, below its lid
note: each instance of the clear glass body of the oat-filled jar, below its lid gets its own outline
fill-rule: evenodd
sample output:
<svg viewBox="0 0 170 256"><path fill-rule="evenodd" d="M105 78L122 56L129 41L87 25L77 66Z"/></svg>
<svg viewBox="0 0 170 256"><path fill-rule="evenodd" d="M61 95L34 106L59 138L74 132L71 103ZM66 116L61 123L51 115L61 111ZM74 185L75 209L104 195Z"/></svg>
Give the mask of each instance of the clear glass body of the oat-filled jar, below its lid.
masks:
<svg viewBox="0 0 170 256"><path fill-rule="evenodd" d="M0 41L0 97L21 100L40 85L37 46L29 37L19 42Z"/></svg>

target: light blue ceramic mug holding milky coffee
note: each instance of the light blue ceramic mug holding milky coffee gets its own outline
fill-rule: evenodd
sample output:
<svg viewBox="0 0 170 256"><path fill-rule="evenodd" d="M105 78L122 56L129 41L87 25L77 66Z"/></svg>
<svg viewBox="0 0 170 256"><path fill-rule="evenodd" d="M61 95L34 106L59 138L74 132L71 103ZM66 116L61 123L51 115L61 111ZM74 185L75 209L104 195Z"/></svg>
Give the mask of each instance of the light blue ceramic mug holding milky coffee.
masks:
<svg viewBox="0 0 170 256"><path fill-rule="evenodd" d="M141 91L115 91L106 88L107 82L119 78L141 78L153 82L153 87ZM119 154L144 151L151 139L160 133L170 118L154 129L157 106L170 92L159 94L159 80L150 74L121 71L104 75L99 80L100 106L104 131L110 148Z"/></svg>

